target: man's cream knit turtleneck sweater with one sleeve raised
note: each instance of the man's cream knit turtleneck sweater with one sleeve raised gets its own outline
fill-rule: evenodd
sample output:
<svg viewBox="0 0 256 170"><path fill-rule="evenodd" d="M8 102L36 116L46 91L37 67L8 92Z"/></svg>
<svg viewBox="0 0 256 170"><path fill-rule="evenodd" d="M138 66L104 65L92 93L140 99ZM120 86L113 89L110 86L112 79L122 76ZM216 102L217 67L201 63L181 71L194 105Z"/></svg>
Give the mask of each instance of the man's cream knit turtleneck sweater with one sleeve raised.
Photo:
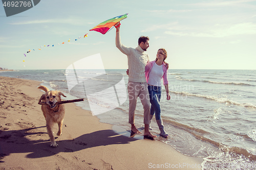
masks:
<svg viewBox="0 0 256 170"><path fill-rule="evenodd" d="M124 46L121 43L119 32L116 32L116 47L128 58L128 80L131 82L146 83L145 66L149 60L148 54L139 45L136 48Z"/></svg>

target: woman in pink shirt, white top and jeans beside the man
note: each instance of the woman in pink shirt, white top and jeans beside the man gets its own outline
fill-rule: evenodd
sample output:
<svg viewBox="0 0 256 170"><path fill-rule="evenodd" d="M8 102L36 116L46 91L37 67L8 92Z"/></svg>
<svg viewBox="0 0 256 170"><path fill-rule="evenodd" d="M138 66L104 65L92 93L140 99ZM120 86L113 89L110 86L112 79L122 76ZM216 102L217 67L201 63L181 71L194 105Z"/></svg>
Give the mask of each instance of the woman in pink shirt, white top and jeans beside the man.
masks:
<svg viewBox="0 0 256 170"><path fill-rule="evenodd" d="M160 130L160 135L167 137L168 134L164 130L163 121L161 118L161 79L166 90L167 100L170 100L168 80L167 80L167 65L164 60L167 58L167 52L164 48L160 48L157 52L157 58L154 61L148 62L145 67L145 77L148 84L148 93L150 94L151 103L151 119L155 114L157 125Z"/></svg>

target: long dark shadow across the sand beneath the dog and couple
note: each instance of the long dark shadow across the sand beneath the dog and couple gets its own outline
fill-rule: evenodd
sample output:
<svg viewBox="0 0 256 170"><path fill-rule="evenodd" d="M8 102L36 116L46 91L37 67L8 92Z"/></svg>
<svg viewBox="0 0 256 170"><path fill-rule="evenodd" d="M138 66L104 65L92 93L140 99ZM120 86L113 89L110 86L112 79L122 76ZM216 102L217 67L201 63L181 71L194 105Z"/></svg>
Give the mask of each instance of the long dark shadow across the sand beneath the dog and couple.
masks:
<svg viewBox="0 0 256 170"><path fill-rule="evenodd" d="M13 153L28 153L27 158L42 158L60 152L76 152L102 145L126 144L138 139L143 139L143 135L130 137L130 132L124 129L100 130L83 134L72 140L57 141L58 147L51 148L49 146L49 140L38 140L41 135L47 134L46 132L38 132L37 129L39 128L46 127L28 128L16 131L0 131L0 162L4 162L3 158Z"/></svg>

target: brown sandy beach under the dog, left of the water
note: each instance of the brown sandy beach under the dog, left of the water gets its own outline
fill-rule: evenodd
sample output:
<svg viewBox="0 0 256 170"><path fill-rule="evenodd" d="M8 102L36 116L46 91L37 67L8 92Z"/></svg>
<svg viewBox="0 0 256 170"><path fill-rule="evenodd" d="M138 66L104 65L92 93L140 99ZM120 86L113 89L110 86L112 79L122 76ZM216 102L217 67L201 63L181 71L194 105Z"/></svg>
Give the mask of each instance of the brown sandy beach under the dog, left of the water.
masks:
<svg viewBox="0 0 256 170"><path fill-rule="evenodd" d="M0 169L201 169L203 158L100 123L96 116L65 104L62 135L50 147L38 105L41 82L0 77ZM63 98L62 98L63 99ZM118 121L118 120L117 120Z"/></svg>

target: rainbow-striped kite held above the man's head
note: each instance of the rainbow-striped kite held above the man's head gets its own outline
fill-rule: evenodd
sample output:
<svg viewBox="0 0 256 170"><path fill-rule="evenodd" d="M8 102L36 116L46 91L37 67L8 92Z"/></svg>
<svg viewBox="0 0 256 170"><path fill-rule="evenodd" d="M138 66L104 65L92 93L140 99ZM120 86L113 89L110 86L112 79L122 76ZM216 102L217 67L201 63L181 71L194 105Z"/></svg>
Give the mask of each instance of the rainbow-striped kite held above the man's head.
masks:
<svg viewBox="0 0 256 170"><path fill-rule="evenodd" d="M101 34L105 34L108 32L117 22L119 22L122 19L127 18L127 14L120 15L111 19L108 19L104 22L101 22L99 25L91 29L90 31L97 31L100 32Z"/></svg>

